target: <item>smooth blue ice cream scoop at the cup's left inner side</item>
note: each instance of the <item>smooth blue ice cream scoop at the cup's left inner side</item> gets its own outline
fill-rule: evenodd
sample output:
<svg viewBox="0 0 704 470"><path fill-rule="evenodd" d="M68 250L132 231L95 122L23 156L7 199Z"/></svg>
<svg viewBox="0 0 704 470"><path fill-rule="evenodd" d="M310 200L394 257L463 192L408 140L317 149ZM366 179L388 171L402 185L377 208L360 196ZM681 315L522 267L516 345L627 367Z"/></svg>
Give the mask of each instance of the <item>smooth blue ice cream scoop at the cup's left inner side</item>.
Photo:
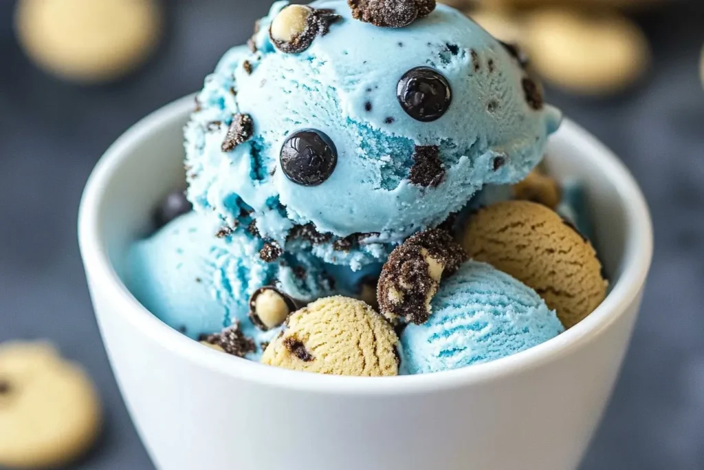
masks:
<svg viewBox="0 0 704 470"><path fill-rule="evenodd" d="M244 230L222 230L217 218L191 212L137 242L125 278L144 307L191 338L239 322L241 333L260 344L275 335L250 318L251 296L260 287L274 286L287 300L304 303L332 294L315 256L287 253L268 263L260 255L263 246ZM267 314L268 327L274 326L277 320Z"/></svg>

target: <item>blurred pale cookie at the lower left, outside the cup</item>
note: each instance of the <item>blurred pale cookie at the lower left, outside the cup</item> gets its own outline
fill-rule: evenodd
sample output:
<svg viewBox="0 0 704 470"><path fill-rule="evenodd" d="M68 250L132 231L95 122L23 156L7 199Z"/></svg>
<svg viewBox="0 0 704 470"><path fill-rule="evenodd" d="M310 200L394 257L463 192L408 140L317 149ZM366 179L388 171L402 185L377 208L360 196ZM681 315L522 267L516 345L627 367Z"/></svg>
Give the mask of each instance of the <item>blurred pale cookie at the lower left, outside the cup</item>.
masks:
<svg viewBox="0 0 704 470"><path fill-rule="evenodd" d="M0 466L63 466L84 454L101 423L86 373L44 342L0 345Z"/></svg>

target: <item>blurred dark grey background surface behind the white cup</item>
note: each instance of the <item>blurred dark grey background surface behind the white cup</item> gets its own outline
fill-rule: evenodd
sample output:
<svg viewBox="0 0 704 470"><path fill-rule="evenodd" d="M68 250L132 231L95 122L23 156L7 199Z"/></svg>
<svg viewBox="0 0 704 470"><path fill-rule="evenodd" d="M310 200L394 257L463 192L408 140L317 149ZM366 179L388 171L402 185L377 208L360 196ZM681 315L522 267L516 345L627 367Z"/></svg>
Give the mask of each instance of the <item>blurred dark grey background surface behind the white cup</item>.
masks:
<svg viewBox="0 0 704 470"><path fill-rule="evenodd" d="M168 37L127 80L82 88L27 63L0 0L0 341L51 338L101 391L106 428L77 469L149 470L89 303L75 222L101 153L149 111L199 89L268 2L170 0ZM704 469L704 2L641 13L650 75L614 99L549 101L622 156L643 186L656 251L641 319L584 470ZM555 390L559 393L559 390ZM549 450L546 450L549 452Z"/></svg>

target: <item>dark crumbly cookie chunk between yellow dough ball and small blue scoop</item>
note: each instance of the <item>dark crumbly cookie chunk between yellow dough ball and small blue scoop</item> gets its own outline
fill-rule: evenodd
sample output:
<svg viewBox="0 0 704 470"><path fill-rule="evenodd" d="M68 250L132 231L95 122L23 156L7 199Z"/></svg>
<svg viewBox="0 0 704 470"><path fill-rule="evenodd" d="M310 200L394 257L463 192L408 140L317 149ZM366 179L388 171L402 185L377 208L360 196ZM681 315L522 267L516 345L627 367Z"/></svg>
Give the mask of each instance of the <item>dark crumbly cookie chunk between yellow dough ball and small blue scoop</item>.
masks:
<svg viewBox="0 0 704 470"><path fill-rule="evenodd" d="M420 325L444 274L453 273L467 254L445 230L417 233L389 256L377 287L379 309L390 321Z"/></svg>

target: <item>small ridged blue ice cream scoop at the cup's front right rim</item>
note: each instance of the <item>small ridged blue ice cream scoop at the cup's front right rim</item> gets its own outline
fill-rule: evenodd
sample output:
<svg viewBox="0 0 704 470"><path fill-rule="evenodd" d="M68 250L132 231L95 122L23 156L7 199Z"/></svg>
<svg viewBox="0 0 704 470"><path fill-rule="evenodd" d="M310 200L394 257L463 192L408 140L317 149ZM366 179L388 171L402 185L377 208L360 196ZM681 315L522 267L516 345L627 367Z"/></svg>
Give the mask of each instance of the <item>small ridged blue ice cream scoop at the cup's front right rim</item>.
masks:
<svg viewBox="0 0 704 470"><path fill-rule="evenodd" d="M433 314L401 334L402 373L458 369L501 359L562 333L555 312L530 287L466 261L432 299Z"/></svg>

